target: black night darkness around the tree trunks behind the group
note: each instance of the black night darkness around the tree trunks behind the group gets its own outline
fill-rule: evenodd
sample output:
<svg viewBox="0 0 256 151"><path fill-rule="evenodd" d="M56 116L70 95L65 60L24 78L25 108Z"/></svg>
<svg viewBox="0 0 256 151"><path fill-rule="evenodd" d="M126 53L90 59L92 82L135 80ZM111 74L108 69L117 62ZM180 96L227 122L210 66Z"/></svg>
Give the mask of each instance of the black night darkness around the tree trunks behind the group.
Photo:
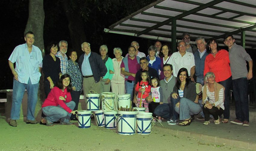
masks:
<svg viewBox="0 0 256 151"><path fill-rule="evenodd" d="M91 1L95 2L95 1ZM132 36L125 36L120 34L105 33L104 28L108 28L111 24L119 21L120 19L128 16L142 7L147 6L153 0L147 1L136 1L131 0L130 5L122 7L120 4L122 1L118 1L119 4L109 6L105 10L87 10L95 11L94 14L90 14L84 19L84 28L86 32L87 42L91 44L93 52L99 53L99 47L103 44L108 46L108 55L114 58L113 49L114 47L120 47L123 50L123 56L126 55L127 48L130 46L132 41L139 42L140 52L144 52L146 55L147 49L150 45L154 45L155 40L142 39ZM139 4L135 5L135 2ZM8 58L11 55L13 49L20 44L25 43L24 41L24 30L26 28L28 19L28 0L2 0L0 1L0 12L1 12L1 37L0 37L0 89L12 89L13 75L8 65ZM125 3L125 1L124 1ZM93 5L93 4L91 4ZM95 4L94 4L95 5ZM90 4L88 4L90 6ZM95 6L96 7L96 6ZM97 7L101 7L100 5ZM126 9L125 9L126 8ZM61 7L61 0L44 1L45 11L45 22L44 22L44 45L51 41L67 40L68 51L72 49L72 43L70 40L68 20ZM83 32L83 31L81 31ZM165 43L165 42L162 42ZM223 49L228 50L227 47ZM82 50L76 50L82 53ZM176 51L176 50L175 50ZM255 58L255 50L246 49L251 55L251 58ZM46 51L45 54L48 52ZM67 52L68 54L68 52ZM80 57L80 56L78 56ZM255 71L254 71L255 73ZM254 75L255 76L255 75ZM254 81L254 78L252 79ZM0 94L3 97L5 94Z"/></svg>

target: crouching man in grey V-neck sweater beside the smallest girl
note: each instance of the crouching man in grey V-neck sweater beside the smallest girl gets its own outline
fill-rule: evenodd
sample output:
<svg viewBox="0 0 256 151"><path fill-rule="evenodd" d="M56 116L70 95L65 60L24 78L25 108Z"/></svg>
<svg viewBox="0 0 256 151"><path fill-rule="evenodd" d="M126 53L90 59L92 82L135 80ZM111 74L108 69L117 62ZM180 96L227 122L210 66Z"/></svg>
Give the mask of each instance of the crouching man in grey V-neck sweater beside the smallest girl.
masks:
<svg viewBox="0 0 256 151"><path fill-rule="evenodd" d="M172 117L172 106L170 101L170 94L173 91L173 87L176 83L176 78L172 76L173 73L173 67L171 64L164 64L163 66L163 72L164 72L164 79L160 81L160 87L163 90L164 95L164 104L158 105L158 107L155 108L155 115L163 117L167 120L168 123L170 123L171 117ZM151 96L148 96L146 98L148 102L152 102L153 99Z"/></svg>

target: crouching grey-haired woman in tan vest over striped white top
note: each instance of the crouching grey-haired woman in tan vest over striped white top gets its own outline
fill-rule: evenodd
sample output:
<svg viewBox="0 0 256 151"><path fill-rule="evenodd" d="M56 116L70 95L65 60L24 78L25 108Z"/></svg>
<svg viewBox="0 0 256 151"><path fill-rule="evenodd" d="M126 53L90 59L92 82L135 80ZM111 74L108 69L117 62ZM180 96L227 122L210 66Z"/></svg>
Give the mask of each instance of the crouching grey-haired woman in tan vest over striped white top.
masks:
<svg viewBox="0 0 256 151"><path fill-rule="evenodd" d="M215 82L215 75L208 72L204 76L206 84L203 87L203 112L204 125L210 124L210 114L214 117L214 123L220 124L220 116L224 111L224 90L221 84Z"/></svg>

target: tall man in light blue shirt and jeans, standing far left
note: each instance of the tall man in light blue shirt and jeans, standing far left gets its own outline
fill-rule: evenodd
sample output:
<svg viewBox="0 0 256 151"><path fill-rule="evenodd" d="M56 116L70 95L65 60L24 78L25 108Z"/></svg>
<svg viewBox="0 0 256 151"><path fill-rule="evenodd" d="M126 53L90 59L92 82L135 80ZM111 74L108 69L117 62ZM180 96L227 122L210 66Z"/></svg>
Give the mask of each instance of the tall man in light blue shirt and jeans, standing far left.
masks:
<svg viewBox="0 0 256 151"><path fill-rule="evenodd" d="M11 105L10 126L17 126L16 120L20 119L20 105L27 89L27 124L37 124L35 120L35 108L37 92L42 68L42 53L37 46L34 46L35 35L28 31L24 35L26 43L15 47L9 60L9 66L14 76L13 96ZM15 69L14 69L15 63Z"/></svg>

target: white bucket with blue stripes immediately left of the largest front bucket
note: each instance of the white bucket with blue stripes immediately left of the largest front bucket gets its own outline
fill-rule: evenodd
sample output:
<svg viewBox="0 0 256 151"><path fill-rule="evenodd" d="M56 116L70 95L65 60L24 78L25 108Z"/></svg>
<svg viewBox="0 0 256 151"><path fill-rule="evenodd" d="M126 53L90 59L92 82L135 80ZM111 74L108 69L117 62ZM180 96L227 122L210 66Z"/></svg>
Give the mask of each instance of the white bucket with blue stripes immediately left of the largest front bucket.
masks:
<svg viewBox="0 0 256 151"><path fill-rule="evenodd" d="M117 128L117 111L104 111L105 116L105 128L106 129L115 129Z"/></svg>

